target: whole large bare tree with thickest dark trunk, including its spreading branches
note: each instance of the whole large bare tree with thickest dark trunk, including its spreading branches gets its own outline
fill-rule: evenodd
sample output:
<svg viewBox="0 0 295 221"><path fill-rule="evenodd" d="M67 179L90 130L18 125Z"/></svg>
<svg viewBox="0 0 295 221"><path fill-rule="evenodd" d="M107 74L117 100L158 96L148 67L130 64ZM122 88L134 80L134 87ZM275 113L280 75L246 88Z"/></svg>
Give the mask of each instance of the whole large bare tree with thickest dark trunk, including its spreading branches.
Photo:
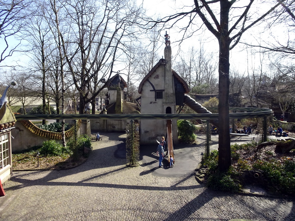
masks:
<svg viewBox="0 0 295 221"><path fill-rule="evenodd" d="M170 21L181 20L183 17L189 19L189 24L183 28L187 32L196 22L196 15L201 19L219 44L219 170L226 171L231 165L229 122L229 73L230 73L230 50L235 47L243 33L251 27L267 19L272 11L278 8L280 3L269 5L263 4L263 9L257 10L253 5L255 1L236 0L194 0L194 7L190 11L180 12L158 21L150 21L155 24L167 24ZM258 5L259 6L259 5ZM267 9L266 9L267 8ZM252 9L252 10L251 10ZM219 19L217 18L217 15ZM173 25L176 21L173 23ZM193 28L198 29L198 28Z"/></svg>

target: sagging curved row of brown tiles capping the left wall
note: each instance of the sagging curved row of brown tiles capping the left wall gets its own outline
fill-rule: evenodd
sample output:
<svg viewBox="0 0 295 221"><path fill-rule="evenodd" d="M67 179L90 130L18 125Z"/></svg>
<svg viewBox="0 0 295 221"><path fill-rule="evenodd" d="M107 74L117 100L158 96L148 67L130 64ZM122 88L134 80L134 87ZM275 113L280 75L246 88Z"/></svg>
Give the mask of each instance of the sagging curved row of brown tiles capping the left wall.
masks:
<svg viewBox="0 0 295 221"><path fill-rule="evenodd" d="M22 125L28 128L32 133L35 133L38 136L61 140L61 133L42 130L28 120L22 120L20 122L22 123ZM81 123L82 123L81 120L77 120L77 128L81 126ZM65 131L65 138L73 136L74 132L75 132L74 127L71 127L69 130Z"/></svg>

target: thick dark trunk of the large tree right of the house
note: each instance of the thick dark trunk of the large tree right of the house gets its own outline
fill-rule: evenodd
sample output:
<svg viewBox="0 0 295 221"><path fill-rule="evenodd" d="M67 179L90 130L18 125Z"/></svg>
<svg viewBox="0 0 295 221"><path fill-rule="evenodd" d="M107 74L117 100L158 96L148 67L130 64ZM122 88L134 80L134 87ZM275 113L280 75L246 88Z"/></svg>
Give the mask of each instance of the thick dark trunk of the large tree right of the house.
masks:
<svg viewBox="0 0 295 221"><path fill-rule="evenodd" d="M230 37L228 36L228 14L230 4L220 1L220 25L222 31L219 37L219 138L218 138L218 166L220 171L227 171L231 165L230 153L230 117L229 117L229 91L230 91Z"/></svg>

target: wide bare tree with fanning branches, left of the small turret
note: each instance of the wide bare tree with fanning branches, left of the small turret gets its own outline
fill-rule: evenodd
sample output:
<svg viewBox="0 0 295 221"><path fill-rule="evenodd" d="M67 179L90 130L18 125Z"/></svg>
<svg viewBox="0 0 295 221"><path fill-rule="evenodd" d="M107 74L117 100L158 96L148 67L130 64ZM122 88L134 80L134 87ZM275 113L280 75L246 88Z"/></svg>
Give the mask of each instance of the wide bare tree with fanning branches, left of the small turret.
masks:
<svg viewBox="0 0 295 221"><path fill-rule="evenodd" d="M103 88L90 93L91 79L109 79L116 61L117 50L122 38L132 35L130 31L140 9L131 1L66 1L64 3L68 22L72 28L72 40L65 42L61 36L63 52L73 82L80 93L79 113L86 103L94 102ZM99 5L99 6L97 6ZM68 44L68 48L65 44ZM69 50L71 49L71 50ZM108 76L99 73L110 66ZM104 81L102 80L101 83Z"/></svg>

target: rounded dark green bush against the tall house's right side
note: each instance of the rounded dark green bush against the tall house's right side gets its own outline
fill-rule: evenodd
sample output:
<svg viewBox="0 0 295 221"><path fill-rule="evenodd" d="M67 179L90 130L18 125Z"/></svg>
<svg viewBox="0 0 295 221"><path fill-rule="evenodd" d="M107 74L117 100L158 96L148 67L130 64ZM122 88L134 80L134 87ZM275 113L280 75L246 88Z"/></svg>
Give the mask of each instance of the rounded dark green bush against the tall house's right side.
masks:
<svg viewBox="0 0 295 221"><path fill-rule="evenodd" d="M178 120L177 129L179 140L182 143L193 143L195 142L196 135L196 126L187 120Z"/></svg>

